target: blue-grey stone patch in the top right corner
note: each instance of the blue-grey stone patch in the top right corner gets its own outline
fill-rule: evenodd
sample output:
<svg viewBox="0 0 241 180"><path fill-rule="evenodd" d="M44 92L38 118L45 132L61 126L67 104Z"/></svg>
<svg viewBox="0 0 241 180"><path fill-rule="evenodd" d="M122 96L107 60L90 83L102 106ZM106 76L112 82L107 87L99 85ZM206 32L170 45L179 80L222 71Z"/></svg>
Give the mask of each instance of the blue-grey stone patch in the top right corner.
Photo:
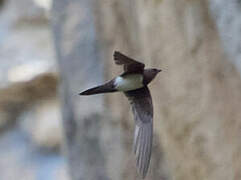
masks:
<svg viewBox="0 0 241 180"><path fill-rule="evenodd" d="M209 9L229 59L241 72L241 1L209 0Z"/></svg>

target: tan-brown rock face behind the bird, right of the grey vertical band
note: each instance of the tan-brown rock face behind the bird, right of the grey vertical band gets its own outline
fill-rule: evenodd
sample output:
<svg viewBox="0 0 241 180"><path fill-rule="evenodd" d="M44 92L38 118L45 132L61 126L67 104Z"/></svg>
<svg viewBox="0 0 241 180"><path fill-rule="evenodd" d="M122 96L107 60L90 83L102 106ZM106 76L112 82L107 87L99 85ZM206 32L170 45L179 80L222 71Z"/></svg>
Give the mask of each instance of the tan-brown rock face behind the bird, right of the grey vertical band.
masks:
<svg viewBox="0 0 241 180"><path fill-rule="evenodd" d="M116 49L163 69L150 85L161 147L154 147L147 179L240 179L240 76L223 52L208 2L113 0L97 9L108 78L118 72L111 60ZM107 98L113 118L130 132L127 100ZM131 139L124 141L129 147ZM155 168L162 163L168 171ZM132 177L134 164L125 167Z"/></svg>

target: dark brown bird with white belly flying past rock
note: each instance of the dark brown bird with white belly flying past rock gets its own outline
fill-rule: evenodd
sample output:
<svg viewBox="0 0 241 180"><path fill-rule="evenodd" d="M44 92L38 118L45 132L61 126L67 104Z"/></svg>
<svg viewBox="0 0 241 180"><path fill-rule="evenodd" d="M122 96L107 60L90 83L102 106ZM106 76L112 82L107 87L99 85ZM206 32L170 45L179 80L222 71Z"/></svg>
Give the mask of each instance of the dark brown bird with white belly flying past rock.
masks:
<svg viewBox="0 0 241 180"><path fill-rule="evenodd" d="M128 98L135 120L133 150L138 174L145 179L148 172L153 139L153 104L148 84L161 69L148 68L119 51L114 51L116 65L122 65L124 72L104 83L87 89L79 95L123 92Z"/></svg>

